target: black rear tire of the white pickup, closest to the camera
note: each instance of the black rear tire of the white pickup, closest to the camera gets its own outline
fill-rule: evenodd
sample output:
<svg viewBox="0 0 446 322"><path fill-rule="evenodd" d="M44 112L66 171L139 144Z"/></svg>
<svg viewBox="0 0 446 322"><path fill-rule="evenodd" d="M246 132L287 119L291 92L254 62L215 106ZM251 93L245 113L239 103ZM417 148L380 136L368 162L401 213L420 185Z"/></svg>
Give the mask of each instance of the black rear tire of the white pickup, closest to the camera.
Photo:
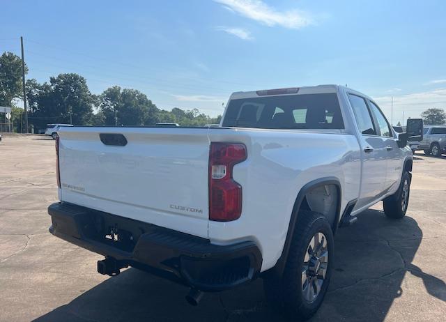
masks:
<svg viewBox="0 0 446 322"><path fill-rule="evenodd" d="M306 262L307 270L304 270L305 256L310 250L309 243L313 241L316 233L319 236L319 240L322 247L322 252L325 254L325 250L328 251L328 260L323 262L322 260L313 261L314 256L309 255L309 260ZM325 238L323 238L325 237ZM323 247L325 240L325 247ZM314 247L318 250L318 246ZM270 305L279 312L286 312L289 318L293 320L307 320L317 309L321 306L325 293L330 284L330 277L332 272L332 260L334 256L334 240L333 232L330 227L330 223L320 213L314 213L310 210L301 210L299 212L298 223L293 233L293 240L291 240L291 246L289 250L288 259L286 260L286 266L284 274L281 278L267 277L263 280L263 287L266 292L266 298L270 302ZM317 252L316 252L317 253ZM316 254L315 257L317 258ZM322 259L325 256L320 256ZM314 271L316 264L317 271ZM321 265L319 265L321 264ZM312 267L312 269L310 269ZM325 268L325 277L323 275L323 268ZM305 273L302 273L305 272ZM321 272L322 271L322 272ZM315 276L317 275L317 277ZM302 285L302 279L307 281ZM321 283L321 284L318 284ZM319 285L319 291L316 284ZM307 288L305 288L305 285ZM313 291L309 288L313 286ZM310 291L306 292L305 290ZM309 293L314 293L314 299L309 301L306 297Z"/></svg>

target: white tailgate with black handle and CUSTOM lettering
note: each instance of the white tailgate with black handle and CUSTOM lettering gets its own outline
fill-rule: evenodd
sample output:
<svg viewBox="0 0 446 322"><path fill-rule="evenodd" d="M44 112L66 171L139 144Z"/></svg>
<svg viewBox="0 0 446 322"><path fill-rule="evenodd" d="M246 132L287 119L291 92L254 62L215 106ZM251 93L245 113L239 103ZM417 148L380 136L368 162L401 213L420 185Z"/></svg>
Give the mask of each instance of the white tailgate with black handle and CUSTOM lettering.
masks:
<svg viewBox="0 0 446 322"><path fill-rule="evenodd" d="M61 200L207 238L207 131L63 128Z"/></svg>

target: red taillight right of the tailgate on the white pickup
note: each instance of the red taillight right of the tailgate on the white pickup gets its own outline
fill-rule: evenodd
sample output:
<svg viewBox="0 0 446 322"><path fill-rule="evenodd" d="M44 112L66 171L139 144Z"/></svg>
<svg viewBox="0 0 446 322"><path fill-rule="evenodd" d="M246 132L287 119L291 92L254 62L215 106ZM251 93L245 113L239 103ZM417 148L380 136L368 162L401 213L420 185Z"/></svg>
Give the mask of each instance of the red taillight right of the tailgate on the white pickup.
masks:
<svg viewBox="0 0 446 322"><path fill-rule="evenodd" d="M233 180L232 169L246 158L245 144L210 144L209 220L229 222L242 214L242 187Z"/></svg>

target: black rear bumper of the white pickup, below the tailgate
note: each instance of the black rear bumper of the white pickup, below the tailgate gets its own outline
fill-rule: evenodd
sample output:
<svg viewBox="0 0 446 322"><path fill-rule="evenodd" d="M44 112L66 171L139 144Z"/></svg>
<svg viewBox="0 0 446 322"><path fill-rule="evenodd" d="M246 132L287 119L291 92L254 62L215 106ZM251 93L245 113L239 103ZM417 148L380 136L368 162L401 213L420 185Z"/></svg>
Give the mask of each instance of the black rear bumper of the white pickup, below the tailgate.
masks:
<svg viewBox="0 0 446 322"><path fill-rule="evenodd" d="M48 213L54 236L201 291L230 289L260 272L261 252L249 241L213 245L205 238L65 203L52 204Z"/></svg>

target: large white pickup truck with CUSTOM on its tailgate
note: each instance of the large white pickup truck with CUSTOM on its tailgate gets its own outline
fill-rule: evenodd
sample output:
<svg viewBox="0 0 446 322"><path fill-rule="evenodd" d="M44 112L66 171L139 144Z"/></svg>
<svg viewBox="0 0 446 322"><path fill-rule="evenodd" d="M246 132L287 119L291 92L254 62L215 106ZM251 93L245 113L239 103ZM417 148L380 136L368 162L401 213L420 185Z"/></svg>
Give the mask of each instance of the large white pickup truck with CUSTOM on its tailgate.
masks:
<svg viewBox="0 0 446 322"><path fill-rule="evenodd" d="M408 124L421 133L422 123ZM333 235L378 201L405 215L412 153L371 98L323 85L233 93L219 128L60 128L49 231L206 291L264 279L306 319L327 291Z"/></svg>

